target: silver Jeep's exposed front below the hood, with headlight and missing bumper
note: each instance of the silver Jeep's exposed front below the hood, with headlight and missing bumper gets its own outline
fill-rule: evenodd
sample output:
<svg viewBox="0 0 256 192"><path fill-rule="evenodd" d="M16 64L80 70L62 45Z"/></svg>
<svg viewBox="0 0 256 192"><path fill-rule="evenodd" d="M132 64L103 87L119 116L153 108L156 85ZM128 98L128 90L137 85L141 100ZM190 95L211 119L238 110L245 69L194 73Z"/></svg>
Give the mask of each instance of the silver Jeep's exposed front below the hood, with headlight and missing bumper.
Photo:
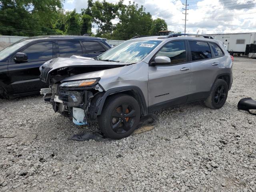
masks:
<svg viewBox="0 0 256 192"><path fill-rule="evenodd" d="M53 84L50 100L47 93L44 96L46 102L52 104L54 112L59 112L64 116L69 116L76 125L86 125L90 118L89 106L92 99L103 92L98 84L98 79L79 80L78 82L63 82ZM80 83L79 83L80 82ZM83 86L83 84L89 84ZM81 84L81 85L76 85Z"/></svg>

